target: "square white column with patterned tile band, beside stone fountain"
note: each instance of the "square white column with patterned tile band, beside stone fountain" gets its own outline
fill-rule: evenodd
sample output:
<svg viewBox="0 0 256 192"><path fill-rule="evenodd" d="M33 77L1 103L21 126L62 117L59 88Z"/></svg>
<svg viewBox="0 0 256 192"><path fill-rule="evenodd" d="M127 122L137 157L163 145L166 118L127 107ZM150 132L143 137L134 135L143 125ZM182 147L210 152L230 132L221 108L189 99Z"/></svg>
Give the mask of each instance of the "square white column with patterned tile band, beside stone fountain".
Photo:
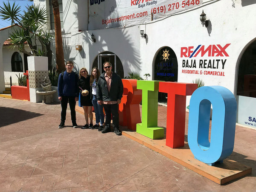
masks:
<svg viewBox="0 0 256 192"><path fill-rule="evenodd" d="M36 94L37 90L43 90L41 82L45 76L48 76L48 58L47 57L28 57L29 69L29 96L30 102L42 102L42 96Z"/></svg>

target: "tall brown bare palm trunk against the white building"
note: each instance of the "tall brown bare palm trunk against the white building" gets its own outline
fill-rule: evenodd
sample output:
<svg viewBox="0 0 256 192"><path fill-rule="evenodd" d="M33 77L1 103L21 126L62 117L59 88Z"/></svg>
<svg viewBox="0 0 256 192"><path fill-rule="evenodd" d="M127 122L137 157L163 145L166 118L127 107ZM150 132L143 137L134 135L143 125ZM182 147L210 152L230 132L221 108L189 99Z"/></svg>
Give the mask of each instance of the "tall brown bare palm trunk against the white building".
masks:
<svg viewBox="0 0 256 192"><path fill-rule="evenodd" d="M60 18L58 0L52 0L52 9L53 9L54 27L55 27L56 68L58 73L61 73L61 71L64 71L66 68L64 63L64 52L63 52L63 44L62 44L62 36L61 36L61 18Z"/></svg>

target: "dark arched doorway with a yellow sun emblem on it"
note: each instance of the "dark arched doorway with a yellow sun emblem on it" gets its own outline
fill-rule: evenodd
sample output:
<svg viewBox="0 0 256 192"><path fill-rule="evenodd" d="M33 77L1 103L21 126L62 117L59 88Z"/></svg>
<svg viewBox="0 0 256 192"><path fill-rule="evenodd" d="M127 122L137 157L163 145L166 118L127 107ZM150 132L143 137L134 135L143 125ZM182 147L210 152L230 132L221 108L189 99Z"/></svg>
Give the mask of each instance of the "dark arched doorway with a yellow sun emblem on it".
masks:
<svg viewBox="0 0 256 192"><path fill-rule="evenodd" d="M156 53L154 60L154 76L157 81L177 81L178 62L175 52L170 47L163 47ZM167 103L167 93L158 94L158 102Z"/></svg>

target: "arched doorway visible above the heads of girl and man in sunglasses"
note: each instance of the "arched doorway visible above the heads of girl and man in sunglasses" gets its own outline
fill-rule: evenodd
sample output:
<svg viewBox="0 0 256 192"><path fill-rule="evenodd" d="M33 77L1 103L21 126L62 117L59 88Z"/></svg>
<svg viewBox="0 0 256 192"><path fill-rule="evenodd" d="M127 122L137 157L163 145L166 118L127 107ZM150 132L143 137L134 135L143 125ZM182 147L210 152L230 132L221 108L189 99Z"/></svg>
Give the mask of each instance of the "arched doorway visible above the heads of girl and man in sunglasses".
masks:
<svg viewBox="0 0 256 192"><path fill-rule="evenodd" d="M99 72L103 73L102 64L105 62L110 62L112 64L112 70L117 73L122 79L124 78L124 68L119 57L113 52L105 51L97 55L93 61L93 67L98 67ZM93 68L92 67L92 68Z"/></svg>

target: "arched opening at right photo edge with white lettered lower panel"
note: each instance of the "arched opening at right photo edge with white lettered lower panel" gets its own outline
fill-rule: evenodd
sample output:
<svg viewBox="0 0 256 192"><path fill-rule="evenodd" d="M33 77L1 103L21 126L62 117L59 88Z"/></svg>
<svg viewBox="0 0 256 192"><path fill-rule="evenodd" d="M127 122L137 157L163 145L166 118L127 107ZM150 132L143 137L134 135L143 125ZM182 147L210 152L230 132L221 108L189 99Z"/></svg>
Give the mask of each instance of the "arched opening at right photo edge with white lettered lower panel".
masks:
<svg viewBox="0 0 256 192"><path fill-rule="evenodd" d="M256 40L244 51L238 68L237 122L256 128Z"/></svg>

